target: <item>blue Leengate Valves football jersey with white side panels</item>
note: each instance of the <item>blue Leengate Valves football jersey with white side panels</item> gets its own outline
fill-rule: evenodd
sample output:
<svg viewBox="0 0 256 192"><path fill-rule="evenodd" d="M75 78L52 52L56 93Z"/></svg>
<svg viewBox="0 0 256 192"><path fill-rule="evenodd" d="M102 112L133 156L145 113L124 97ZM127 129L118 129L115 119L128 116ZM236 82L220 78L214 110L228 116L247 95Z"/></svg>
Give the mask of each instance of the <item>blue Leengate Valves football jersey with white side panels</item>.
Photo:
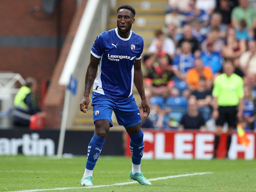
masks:
<svg viewBox="0 0 256 192"><path fill-rule="evenodd" d="M117 28L102 32L91 49L100 58L93 91L113 99L131 96L134 62L141 58L143 46L143 38L132 30L128 38L120 37Z"/></svg>

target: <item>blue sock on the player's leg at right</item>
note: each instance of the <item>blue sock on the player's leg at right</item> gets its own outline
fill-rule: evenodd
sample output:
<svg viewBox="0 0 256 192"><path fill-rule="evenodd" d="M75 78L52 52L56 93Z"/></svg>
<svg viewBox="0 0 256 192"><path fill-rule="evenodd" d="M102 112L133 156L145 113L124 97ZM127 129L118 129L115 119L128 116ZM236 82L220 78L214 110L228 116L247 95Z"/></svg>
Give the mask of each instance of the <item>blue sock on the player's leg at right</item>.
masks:
<svg viewBox="0 0 256 192"><path fill-rule="evenodd" d="M130 150L132 154L132 163L140 165L141 158L144 152L144 141L142 130L136 134L129 135L130 140Z"/></svg>

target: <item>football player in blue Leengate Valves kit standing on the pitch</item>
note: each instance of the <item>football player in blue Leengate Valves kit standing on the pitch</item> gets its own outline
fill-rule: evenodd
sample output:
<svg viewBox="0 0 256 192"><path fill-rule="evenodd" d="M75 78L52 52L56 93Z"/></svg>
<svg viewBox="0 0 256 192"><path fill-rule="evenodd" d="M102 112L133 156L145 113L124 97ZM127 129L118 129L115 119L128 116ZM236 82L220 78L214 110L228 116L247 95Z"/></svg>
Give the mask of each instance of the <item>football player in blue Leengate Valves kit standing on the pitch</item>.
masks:
<svg viewBox="0 0 256 192"><path fill-rule="evenodd" d="M146 100L141 57L143 38L131 30L135 22L135 10L132 6L122 5L117 9L117 28L102 32L91 48L90 63L85 77L84 97L80 110L84 113L91 104L95 131L88 145L87 162L80 184L92 186L92 172L113 126L112 111L119 125L123 125L130 136L132 170L130 178L140 184L151 185L140 171L140 162L144 152L143 132L140 110L132 94L133 84L141 98L143 116L148 117L150 106ZM98 75L96 76L98 71Z"/></svg>

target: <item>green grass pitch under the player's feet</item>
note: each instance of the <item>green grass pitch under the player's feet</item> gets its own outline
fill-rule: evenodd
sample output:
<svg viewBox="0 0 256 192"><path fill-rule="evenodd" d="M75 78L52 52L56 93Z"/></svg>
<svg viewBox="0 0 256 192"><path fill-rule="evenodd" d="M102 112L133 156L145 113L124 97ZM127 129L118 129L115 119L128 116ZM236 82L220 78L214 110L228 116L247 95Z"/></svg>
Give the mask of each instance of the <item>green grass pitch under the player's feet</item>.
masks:
<svg viewBox="0 0 256 192"><path fill-rule="evenodd" d="M152 186L129 177L131 159L101 156L93 187L80 186L85 156L0 156L1 192L255 192L256 160L142 160Z"/></svg>

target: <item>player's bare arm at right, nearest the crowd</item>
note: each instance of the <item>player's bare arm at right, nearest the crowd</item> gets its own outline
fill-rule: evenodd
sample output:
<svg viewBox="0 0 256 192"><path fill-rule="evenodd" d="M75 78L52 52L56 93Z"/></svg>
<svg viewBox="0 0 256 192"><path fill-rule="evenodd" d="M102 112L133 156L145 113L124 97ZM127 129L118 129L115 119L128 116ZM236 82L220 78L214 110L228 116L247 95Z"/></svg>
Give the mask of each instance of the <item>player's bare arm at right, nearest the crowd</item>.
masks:
<svg viewBox="0 0 256 192"><path fill-rule="evenodd" d="M135 60L134 62L134 85L138 90L141 98L141 106L143 108L144 117L150 114L150 106L146 100L144 84L143 84L143 74L141 69L141 59Z"/></svg>

